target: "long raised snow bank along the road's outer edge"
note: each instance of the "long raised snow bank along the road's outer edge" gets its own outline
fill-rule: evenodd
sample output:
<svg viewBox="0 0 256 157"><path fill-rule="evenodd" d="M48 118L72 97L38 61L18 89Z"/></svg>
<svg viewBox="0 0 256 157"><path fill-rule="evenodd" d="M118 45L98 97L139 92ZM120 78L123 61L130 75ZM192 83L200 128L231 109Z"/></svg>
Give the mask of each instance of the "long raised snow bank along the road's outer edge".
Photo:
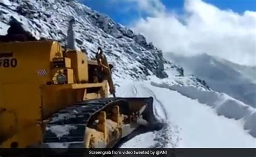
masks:
<svg viewBox="0 0 256 157"><path fill-rule="evenodd" d="M256 110L255 108L233 99L225 93L205 90L196 86L180 86L170 83L169 80L163 80L160 83L154 81L151 85L168 88L177 91L191 99L197 99L199 103L206 104L215 109L218 115L224 115L226 118L242 120L244 129L256 138Z"/></svg>

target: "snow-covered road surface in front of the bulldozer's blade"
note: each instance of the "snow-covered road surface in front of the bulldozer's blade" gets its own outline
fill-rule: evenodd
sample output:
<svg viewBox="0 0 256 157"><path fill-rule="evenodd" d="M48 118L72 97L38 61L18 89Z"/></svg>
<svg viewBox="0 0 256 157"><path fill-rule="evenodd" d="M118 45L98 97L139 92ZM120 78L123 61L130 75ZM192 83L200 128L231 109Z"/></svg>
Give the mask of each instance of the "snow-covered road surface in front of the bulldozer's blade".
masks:
<svg viewBox="0 0 256 157"><path fill-rule="evenodd" d="M244 130L244 120L218 115L214 108L152 81L123 83L118 93L153 97L155 114L168 125L164 131L138 135L122 147L256 147L256 138Z"/></svg>

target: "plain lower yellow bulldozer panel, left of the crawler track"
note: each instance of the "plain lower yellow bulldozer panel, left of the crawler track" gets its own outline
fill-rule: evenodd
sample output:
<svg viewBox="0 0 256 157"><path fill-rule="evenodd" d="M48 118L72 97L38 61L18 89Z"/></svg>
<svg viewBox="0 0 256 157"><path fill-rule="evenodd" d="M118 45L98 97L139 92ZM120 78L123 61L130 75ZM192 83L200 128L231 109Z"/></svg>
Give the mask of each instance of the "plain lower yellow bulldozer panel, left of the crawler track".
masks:
<svg viewBox="0 0 256 157"><path fill-rule="evenodd" d="M2 106L17 115L18 128L41 119L41 93L37 84L2 84Z"/></svg>

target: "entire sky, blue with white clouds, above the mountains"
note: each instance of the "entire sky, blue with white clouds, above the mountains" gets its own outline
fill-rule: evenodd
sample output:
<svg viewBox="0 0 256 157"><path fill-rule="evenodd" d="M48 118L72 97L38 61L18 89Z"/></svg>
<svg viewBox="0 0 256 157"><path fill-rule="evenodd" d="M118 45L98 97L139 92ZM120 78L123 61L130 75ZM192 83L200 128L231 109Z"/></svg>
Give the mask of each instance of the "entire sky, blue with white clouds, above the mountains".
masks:
<svg viewBox="0 0 256 157"><path fill-rule="evenodd" d="M256 65L256 0L80 0L163 52Z"/></svg>

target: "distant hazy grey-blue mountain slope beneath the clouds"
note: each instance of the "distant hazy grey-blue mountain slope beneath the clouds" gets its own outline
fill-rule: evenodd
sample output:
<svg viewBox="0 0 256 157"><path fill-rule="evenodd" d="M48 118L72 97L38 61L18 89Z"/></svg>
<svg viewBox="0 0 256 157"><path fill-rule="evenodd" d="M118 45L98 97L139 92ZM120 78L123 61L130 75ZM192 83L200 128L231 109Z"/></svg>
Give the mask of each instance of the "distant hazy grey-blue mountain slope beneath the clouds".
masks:
<svg viewBox="0 0 256 157"><path fill-rule="evenodd" d="M207 54L185 57L165 53L164 57L184 67L185 74L204 79L215 91L224 92L245 104L256 107L255 67L234 64Z"/></svg>

